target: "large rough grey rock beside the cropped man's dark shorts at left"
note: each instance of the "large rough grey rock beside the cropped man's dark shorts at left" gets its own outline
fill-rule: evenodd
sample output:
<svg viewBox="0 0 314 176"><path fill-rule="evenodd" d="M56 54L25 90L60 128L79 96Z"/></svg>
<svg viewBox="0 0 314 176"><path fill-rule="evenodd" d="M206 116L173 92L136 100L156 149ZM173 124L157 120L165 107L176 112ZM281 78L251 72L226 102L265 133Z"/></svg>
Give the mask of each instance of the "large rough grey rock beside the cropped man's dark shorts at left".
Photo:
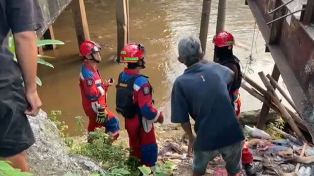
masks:
<svg viewBox="0 0 314 176"><path fill-rule="evenodd" d="M90 158L68 154L56 125L48 120L44 111L29 117L29 121L36 143L27 150L27 160L36 176L62 176L68 172L88 175L102 170Z"/></svg>

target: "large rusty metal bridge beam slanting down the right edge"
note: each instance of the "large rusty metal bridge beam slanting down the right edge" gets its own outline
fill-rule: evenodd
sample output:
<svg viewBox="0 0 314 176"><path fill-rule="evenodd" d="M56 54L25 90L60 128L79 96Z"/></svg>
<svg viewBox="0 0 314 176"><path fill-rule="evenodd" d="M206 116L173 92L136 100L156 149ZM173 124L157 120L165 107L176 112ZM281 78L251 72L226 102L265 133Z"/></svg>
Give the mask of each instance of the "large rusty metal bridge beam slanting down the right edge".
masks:
<svg viewBox="0 0 314 176"><path fill-rule="evenodd" d="M280 33L267 26L274 19L268 14L275 8L274 1L246 0L297 111L314 139L314 28L301 23L295 15L282 21ZM289 0L280 1L284 4ZM282 9L287 8L290 12L298 10L291 6Z"/></svg>

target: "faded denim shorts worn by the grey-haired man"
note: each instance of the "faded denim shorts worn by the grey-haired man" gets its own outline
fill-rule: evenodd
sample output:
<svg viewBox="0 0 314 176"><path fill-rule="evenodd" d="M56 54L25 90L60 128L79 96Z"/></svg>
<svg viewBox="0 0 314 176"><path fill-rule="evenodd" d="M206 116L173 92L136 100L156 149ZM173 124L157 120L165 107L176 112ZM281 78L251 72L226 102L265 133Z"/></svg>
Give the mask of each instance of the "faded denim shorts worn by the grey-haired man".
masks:
<svg viewBox="0 0 314 176"><path fill-rule="evenodd" d="M241 171L241 151L242 141L213 151L194 151L193 171L204 174L208 162L220 153L226 162L227 172L230 174L239 173Z"/></svg>

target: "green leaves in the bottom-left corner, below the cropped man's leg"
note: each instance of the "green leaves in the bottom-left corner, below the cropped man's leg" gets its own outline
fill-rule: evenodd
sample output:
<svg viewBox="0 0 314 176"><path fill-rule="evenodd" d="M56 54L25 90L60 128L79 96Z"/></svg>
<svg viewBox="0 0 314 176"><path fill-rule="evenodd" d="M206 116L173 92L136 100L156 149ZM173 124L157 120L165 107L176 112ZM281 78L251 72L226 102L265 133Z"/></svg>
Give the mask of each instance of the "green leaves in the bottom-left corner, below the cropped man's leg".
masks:
<svg viewBox="0 0 314 176"><path fill-rule="evenodd" d="M21 169L13 168L9 161L0 161L0 176L31 176L32 173L21 172Z"/></svg>

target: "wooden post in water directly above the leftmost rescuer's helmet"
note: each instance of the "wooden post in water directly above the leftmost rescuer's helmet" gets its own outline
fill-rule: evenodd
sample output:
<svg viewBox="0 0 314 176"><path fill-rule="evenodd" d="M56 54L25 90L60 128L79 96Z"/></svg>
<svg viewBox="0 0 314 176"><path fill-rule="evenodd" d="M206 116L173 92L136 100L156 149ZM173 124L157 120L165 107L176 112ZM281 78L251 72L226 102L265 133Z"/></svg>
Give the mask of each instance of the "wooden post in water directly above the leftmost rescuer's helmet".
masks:
<svg viewBox="0 0 314 176"><path fill-rule="evenodd" d="M90 40L84 0L73 0L71 6L79 46L84 40Z"/></svg>

